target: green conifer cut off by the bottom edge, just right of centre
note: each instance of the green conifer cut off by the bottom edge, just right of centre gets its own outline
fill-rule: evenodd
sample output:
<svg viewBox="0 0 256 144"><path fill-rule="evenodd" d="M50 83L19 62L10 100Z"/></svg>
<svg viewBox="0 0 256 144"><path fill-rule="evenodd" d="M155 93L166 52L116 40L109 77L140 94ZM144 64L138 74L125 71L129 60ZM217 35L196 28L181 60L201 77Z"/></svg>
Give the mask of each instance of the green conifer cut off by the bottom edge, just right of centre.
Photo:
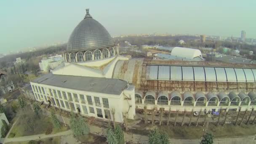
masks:
<svg viewBox="0 0 256 144"><path fill-rule="evenodd" d="M169 144L168 136L154 129L149 133L149 144Z"/></svg>

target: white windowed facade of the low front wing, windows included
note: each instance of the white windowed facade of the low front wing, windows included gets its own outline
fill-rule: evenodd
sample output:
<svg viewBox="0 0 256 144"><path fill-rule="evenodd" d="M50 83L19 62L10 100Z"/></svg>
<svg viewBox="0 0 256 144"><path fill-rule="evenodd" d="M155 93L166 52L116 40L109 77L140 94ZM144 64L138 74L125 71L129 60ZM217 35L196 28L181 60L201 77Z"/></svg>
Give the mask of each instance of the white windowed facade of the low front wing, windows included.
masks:
<svg viewBox="0 0 256 144"><path fill-rule="evenodd" d="M37 101L44 101L46 104L51 101L55 107L67 111L79 112L79 108L82 115L103 120L108 120L107 112L113 120L112 111L115 111L115 121L118 123L123 122L124 114L128 119L135 116L135 92L132 85L128 85L120 95L78 91L32 82L31 85Z"/></svg>

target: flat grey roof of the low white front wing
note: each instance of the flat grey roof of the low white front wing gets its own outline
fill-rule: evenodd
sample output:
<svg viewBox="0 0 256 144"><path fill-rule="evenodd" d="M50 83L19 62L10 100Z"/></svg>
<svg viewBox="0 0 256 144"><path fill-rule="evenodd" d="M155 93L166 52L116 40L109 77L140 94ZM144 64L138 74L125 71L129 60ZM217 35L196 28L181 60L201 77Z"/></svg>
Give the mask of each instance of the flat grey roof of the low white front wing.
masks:
<svg viewBox="0 0 256 144"><path fill-rule="evenodd" d="M126 81L120 79L53 75L52 73L43 75L42 77L33 80L32 83L114 95L120 95L128 85Z"/></svg>

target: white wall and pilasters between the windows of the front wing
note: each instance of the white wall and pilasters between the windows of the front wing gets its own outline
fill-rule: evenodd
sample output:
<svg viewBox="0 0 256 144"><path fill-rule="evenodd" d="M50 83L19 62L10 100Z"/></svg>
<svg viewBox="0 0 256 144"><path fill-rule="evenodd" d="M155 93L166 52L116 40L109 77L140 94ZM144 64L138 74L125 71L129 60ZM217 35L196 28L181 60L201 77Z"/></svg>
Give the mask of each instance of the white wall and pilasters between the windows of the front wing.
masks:
<svg viewBox="0 0 256 144"><path fill-rule="evenodd" d="M46 104L48 104L49 103L48 100L51 99L51 101L52 101L51 103L55 102L55 104L53 104L55 107L59 107L66 111L71 111L71 104L74 104L75 109L72 109L74 112L78 112L77 107L79 106L80 113L82 115L89 116L89 117L92 116L92 117L96 117L96 118L103 119L103 120L108 120L107 114L105 114L104 110L107 110L110 112L111 120L113 120L113 115L112 115L111 110L114 109L115 110L115 121L118 123L123 122L123 112L126 111L126 107L124 107L124 104L126 101L124 99L125 96L123 93L121 93L118 96L118 95L110 95L110 94L104 94L104 93L77 91L77 90L73 90L73 89L59 88L59 87L54 87L51 85L43 85L43 84L32 83L32 82L31 82L31 85L32 85L33 93L35 95L35 99L37 101L44 101ZM41 92L39 91L39 89L36 90L36 88L39 88L39 87L41 88ZM44 89L45 94L43 94L42 88ZM51 89L52 94L50 93L50 89ZM53 92L53 90L56 91L56 94ZM58 91L61 92L61 95L59 95ZM67 99L64 98L63 92L66 94ZM68 93L71 93L72 100L69 99ZM124 93L133 94L134 89L132 91L127 90ZM77 97L78 97L77 101L75 100L74 94L77 94ZM84 98L85 98L84 102L82 99L80 99L80 94L84 96ZM92 99L91 103L88 102L87 96L91 96L91 99ZM94 97L99 97L100 103L97 103L95 101ZM131 97L134 97L134 95L132 95ZM109 107L106 107L104 105L102 98L108 99ZM57 101L59 101L59 104ZM63 101L64 107L62 106L61 101ZM83 107L86 107L87 112L85 109L83 109ZM89 107L94 109L94 113L90 112ZM132 108L130 108L131 112L129 112L129 116L128 116L128 118L131 118L131 119L133 119L133 115L135 115L135 106L133 106ZM99 117L97 115L96 109L101 109L103 117ZM132 116L130 116L130 115L132 115Z"/></svg>

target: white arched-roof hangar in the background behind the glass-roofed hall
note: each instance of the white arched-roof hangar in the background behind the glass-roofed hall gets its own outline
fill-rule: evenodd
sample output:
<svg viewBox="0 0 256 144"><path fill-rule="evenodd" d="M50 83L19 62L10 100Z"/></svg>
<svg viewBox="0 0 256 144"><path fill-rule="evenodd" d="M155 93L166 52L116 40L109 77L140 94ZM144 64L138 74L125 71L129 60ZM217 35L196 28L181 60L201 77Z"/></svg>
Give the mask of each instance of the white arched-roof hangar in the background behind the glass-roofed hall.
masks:
<svg viewBox="0 0 256 144"><path fill-rule="evenodd" d="M195 57L202 57L202 53L198 49L174 47L171 51L172 56L182 57L185 59L193 59Z"/></svg>

